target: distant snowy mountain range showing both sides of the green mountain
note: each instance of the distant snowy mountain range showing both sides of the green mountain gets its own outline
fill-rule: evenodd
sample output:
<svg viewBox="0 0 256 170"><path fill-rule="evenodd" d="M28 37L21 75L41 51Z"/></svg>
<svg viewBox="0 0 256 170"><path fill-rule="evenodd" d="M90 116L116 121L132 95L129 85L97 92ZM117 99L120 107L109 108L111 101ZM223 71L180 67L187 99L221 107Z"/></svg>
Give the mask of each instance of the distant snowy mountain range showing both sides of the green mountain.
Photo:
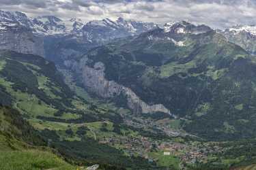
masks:
<svg viewBox="0 0 256 170"><path fill-rule="evenodd" d="M140 33L156 29L157 27L165 29L165 31L168 32L173 24L176 23L177 22L169 22L161 26L152 22L137 22L134 20L124 20L124 18L118 18L117 20L106 18L104 20L83 22L83 20L79 18L70 18L69 20L61 20L55 16L29 18L22 12L0 11L1 37L6 36L3 41L6 41L6 39L9 40L8 35L12 35L12 37L22 37L23 34L25 34L25 37L29 37L25 43L27 44L26 47L18 43L20 37L12 39L12 41L10 40L10 43L8 41L5 43L2 42L3 45L10 46L10 44L15 44L15 41L17 41L16 44L18 45L16 45L16 47L10 46L9 48L16 48L18 52L44 56L45 51L46 53L51 51L48 50L47 47L49 41L55 41L54 44L58 44L55 48L55 50L57 50L56 53L68 53L68 58L72 57L72 55L76 55L76 52L79 52L78 55L81 55L81 53L83 54L93 47L106 44L112 39L139 35ZM14 31L14 29L17 31ZM254 25L238 25L229 29L216 31L223 34L229 41L242 46L242 48L254 54L255 46L253 41L255 40L255 30L256 27ZM182 29L180 31L182 31ZM51 37L52 39L47 40L50 39L47 38L45 40L44 37ZM33 41L31 41L31 39L33 39ZM46 50L42 51L42 49L44 49L42 48L44 41L47 41L46 47L44 47ZM61 44L63 41L65 41L65 44L69 44L69 48ZM72 46L76 46L76 48ZM83 50L77 49L78 47L83 48ZM56 53L52 54L49 52L46 56L55 60ZM58 58L61 58L61 56L58 56Z"/></svg>

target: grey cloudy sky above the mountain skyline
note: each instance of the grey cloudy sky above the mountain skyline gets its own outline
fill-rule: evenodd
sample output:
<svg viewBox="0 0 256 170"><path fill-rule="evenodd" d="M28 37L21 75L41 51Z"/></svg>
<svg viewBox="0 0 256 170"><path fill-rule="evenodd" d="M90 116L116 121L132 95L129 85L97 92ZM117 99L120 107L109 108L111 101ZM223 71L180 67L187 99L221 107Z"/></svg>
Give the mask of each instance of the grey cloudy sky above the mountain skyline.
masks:
<svg viewBox="0 0 256 170"><path fill-rule="evenodd" d="M0 9L85 21L123 17L163 24L188 20L214 28L256 24L256 0L0 0Z"/></svg>

